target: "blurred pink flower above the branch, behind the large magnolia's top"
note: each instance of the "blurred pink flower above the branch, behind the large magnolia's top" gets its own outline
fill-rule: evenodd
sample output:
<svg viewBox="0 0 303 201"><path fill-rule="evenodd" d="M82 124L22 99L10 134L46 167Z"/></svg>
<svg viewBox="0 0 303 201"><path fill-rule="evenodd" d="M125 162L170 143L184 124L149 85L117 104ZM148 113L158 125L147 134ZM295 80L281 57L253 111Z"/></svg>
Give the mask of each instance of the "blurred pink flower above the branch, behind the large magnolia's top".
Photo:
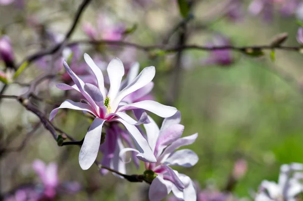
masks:
<svg viewBox="0 0 303 201"><path fill-rule="evenodd" d="M125 25L122 23L114 23L106 15L99 15L96 28L89 22L85 22L82 25L82 30L92 40L106 39L110 41L120 41L125 32Z"/></svg>

